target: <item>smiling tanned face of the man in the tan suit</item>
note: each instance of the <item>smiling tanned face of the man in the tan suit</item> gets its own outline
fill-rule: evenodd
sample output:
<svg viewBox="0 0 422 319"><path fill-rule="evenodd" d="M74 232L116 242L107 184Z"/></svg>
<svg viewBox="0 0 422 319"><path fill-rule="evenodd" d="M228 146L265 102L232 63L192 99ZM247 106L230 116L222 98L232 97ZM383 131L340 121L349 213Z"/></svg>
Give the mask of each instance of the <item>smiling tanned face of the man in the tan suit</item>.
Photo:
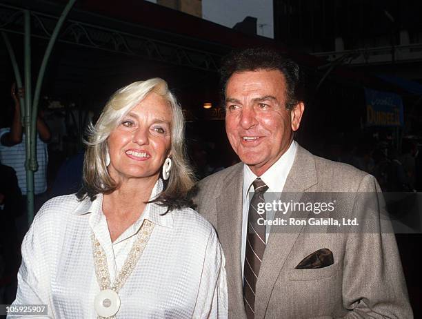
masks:
<svg viewBox="0 0 422 319"><path fill-rule="evenodd" d="M285 101L279 70L234 73L225 88L225 131L241 161L257 176L287 151L299 128L303 103L290 111Z"/></svg>

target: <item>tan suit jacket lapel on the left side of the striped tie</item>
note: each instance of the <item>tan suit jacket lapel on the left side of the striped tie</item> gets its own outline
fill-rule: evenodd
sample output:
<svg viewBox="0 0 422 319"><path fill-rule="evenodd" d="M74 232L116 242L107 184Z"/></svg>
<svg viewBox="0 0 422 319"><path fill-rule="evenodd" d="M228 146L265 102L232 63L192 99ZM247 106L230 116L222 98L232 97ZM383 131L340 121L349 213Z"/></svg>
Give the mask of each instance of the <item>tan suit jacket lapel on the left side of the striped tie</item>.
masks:
<svg viewBox="0 0 422 319"><path fill-rule="evenodd" d="M224 189L216 200L217 231L226 260L229 309L237 309L243 313L241 271L243 164L239 164L237 170L225 177L223 185Z"/></svg>

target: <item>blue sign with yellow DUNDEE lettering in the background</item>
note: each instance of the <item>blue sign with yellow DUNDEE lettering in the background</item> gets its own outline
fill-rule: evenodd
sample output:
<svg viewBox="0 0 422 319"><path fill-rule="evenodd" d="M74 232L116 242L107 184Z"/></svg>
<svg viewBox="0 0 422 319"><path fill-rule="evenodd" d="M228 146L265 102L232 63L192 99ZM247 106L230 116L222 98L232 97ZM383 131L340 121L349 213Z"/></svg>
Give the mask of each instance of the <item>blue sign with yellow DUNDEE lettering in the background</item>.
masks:
<svg viewBox="0 0 422 319"><path fill-rule="evenodd" d="M403 126L401 96L365 88L367 126Z"/></svg>

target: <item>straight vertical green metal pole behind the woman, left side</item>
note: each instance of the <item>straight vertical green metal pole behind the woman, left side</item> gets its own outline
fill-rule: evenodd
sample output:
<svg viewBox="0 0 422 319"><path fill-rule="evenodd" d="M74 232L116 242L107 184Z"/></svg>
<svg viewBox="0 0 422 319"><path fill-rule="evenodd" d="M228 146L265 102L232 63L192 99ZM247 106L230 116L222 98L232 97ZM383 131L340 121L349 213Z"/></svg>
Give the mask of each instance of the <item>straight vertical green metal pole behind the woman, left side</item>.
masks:
<svg viewBox="0 0 422 319"><path fill-rule="evenodd" d="M31 16L29 10L23 11L25 23L25 35L23 38L25 51L25 142L26 142L26 197L28 207L28 225L34 219L34 171L30 168L30 162L34 154L31 150Z"/></svg>

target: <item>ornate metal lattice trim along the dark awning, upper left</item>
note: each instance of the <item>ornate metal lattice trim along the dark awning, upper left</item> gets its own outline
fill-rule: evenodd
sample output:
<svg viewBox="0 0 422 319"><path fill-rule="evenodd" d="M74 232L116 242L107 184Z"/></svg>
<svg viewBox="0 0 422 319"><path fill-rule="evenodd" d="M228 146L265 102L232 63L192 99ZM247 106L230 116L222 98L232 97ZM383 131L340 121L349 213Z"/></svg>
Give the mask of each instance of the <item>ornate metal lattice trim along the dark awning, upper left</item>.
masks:
<svg viewBox="0 0 422 319"><path fill-rule="evenodd" d="M50 39L58 17L30 11L31 36ZM114 21L115 22L115 21ZM123 21L122 21L123 23ZM0 30L23 35L23 9L0 4ZM66 20L57 41L217 72L221 55L83 21Z"/></svg>

